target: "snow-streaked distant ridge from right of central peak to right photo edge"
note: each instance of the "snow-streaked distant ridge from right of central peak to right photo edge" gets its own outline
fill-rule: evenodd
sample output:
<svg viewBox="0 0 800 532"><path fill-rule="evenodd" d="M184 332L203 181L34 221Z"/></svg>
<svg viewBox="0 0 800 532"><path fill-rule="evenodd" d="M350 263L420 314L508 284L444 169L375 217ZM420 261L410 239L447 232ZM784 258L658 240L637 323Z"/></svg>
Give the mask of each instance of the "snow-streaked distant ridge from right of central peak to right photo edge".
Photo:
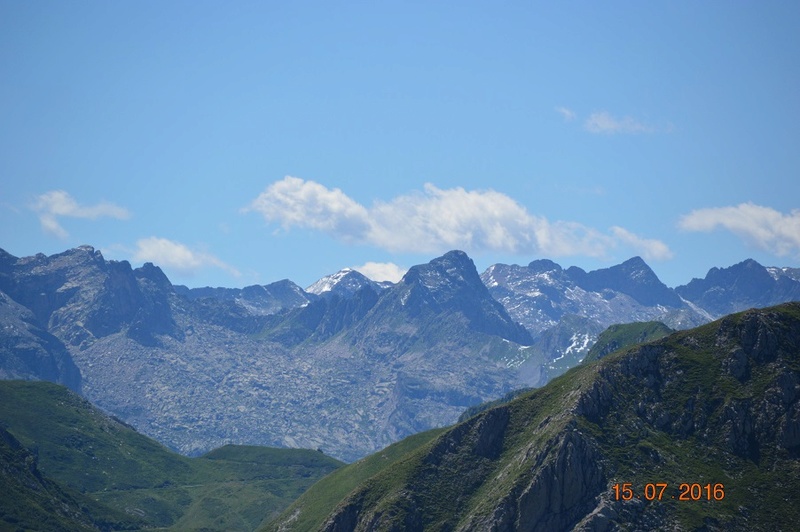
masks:
<svg viewBox="0 0 800 532"><path fill-rule="evenodd" d="M660 321L686 329L732 312L800 300L795 273L750 259L712 268L705 279L672 289L634 257L591 272L546 259L527 267L495 264L481 279L533 336L531 350L515 363L531 375L531 385L541 385L575 366L606 327Z"/></svg>

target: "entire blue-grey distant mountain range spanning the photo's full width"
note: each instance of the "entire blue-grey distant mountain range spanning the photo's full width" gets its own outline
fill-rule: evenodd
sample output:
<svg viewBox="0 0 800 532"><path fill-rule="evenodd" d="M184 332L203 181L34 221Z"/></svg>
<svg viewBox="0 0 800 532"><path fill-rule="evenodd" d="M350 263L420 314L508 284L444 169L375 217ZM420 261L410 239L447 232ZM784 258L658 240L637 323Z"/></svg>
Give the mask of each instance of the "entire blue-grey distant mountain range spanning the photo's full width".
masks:
<svg viewBox="0 0 800 532"><path fill-rule="evenodd" d="M238 443L352 461L545 384L613 323L685 329L800 299L798 277L745 261L671 289L640 258L479 275L453 251L393 285L345 270L307 290L189 289L89 246L0 250L0 376L65 384L191 456Z"/></svg>

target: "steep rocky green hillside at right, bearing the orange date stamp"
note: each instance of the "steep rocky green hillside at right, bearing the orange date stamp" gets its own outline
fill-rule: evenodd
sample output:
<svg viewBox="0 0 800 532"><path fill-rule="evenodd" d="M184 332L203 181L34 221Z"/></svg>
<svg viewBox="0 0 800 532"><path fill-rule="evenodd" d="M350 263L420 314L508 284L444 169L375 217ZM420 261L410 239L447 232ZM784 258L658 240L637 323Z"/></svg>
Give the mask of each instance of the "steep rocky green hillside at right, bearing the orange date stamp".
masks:
<svg viewBox="0 0 800 532"><path fill-rule="evenodd" d="M318 499L313 521L295 505L270 526L314 529L325 506L325 530L789 529L800 303L616 351L433 436L337 504ZM651 483L668 485L661 500L643 497ZM681 483L698 500L678 500Z"/></svg>

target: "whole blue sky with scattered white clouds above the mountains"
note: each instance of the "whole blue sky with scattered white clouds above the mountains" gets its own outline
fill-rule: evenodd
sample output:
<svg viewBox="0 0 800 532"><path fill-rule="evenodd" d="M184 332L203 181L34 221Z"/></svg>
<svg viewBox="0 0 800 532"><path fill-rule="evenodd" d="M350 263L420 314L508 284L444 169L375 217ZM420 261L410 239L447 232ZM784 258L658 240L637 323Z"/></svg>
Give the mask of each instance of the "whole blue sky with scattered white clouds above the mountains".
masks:
<svg viewBox="0 0 800 532"><path fill-rule="evenodd" d="M0 0L0 247L189 286L796 267L798 94L797 2Z"/></svg>

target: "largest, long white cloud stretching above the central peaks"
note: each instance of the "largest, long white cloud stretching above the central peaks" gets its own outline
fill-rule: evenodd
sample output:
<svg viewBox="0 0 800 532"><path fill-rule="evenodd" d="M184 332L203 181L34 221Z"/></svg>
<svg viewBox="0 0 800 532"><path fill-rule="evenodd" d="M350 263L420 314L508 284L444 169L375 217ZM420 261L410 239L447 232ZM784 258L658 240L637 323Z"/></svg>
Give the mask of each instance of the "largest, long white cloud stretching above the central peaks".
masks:
<svg viewBox="0 0 800 532"><path fill-rule="evenodd" d="M577 222L551 222L494 190L439 189L431 184L422 192L367 208L339 189L286 177L268 186L244 210L259 212L267 222L287 230L316 229L346 242L398 253L462 249L602 258L619 240Z"/></svg>

